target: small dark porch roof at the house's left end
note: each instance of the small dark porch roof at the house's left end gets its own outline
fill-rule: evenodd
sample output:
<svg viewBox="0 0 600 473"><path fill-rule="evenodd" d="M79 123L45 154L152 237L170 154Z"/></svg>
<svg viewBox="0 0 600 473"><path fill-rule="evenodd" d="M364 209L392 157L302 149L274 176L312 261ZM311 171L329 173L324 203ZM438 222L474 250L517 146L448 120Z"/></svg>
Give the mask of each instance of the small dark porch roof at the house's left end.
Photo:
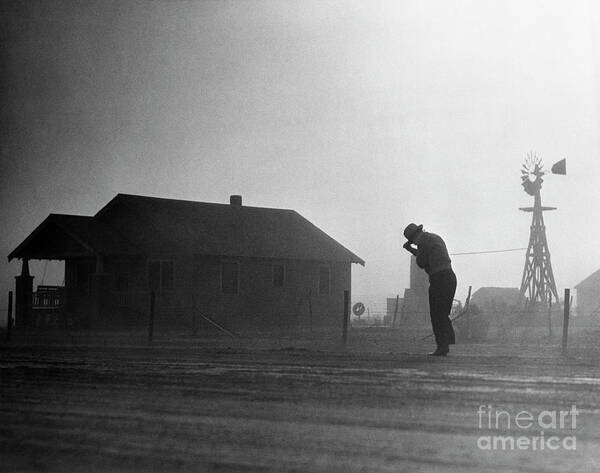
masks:
<svg viewBox="0 0 600 473"><path fill-rule="evenodd" d="M65 254L132 253L139 253L135 245L94 217L50 214L8 255L8 260L23 257L59 259Z"/></svg>

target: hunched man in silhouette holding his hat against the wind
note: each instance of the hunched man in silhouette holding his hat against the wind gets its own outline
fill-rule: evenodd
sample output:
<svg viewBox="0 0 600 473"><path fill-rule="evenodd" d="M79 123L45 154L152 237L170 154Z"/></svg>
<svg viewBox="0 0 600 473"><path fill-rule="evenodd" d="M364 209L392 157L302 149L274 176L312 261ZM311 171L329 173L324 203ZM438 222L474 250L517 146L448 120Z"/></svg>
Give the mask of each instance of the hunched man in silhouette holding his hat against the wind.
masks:
<svg viewBox="0 0 600 473"><path fill-rule="evenodd" d="M414 223L406 226L404 236L408 241L403 248L417 257L417 266L429 275L429 314L437 344L430 355L446 356L450 351L448 346L455 341L450 311L456 293L456 275L446 244L439 235L424 232L423 225Z"/></svg>

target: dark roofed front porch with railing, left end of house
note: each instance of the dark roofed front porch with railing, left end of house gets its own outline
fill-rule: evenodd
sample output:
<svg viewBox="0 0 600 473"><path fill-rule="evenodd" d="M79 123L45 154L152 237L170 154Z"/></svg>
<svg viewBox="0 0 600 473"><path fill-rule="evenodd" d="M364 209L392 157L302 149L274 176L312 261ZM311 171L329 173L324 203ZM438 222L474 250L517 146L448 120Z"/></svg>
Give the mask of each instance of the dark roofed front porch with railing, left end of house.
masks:
<svg viewBox="0 0 600 473"><path fill-rule="evenodd" d="M130 302L124 294L128 288L115 286L120 274L112 263L127 267L139 257L139 250L91 217L51 214L8 256L22 261L15 277L16 326L95 325L109 307ZM30 260L64 261L63 285L41 284L34 291Z"/></svg>

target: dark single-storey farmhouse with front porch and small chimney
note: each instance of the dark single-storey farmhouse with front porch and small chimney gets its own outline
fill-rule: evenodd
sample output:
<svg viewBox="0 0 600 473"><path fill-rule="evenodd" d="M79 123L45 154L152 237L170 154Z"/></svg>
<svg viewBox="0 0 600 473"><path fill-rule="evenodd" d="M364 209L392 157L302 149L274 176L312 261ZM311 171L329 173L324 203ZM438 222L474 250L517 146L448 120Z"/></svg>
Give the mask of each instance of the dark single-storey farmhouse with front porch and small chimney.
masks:
<svg viewBox="0 0 600 473"><path fill-rule="evenodd" d="M335 327L351 264L364 261L292 210L118 194L94 216L49 215L8 256L16 324L232 329ZM64 287L38 286L28 260L63 260ZM202 319L206 320L206 319Z"/></svg>

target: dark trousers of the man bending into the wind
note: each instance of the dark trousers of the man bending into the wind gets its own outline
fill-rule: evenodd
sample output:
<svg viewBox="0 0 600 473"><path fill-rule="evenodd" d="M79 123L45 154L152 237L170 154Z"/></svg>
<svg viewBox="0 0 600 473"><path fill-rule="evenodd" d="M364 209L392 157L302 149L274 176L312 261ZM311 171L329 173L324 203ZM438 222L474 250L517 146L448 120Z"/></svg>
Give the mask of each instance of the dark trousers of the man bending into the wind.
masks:
<svg viewBox="0 0 600 473"><path fill-rule="evenodd" d="M454 329L450 322L452 301L456 293L456 275L445 269L429 276L429 314L438 348L448 349L454 343Z"/></svg>

